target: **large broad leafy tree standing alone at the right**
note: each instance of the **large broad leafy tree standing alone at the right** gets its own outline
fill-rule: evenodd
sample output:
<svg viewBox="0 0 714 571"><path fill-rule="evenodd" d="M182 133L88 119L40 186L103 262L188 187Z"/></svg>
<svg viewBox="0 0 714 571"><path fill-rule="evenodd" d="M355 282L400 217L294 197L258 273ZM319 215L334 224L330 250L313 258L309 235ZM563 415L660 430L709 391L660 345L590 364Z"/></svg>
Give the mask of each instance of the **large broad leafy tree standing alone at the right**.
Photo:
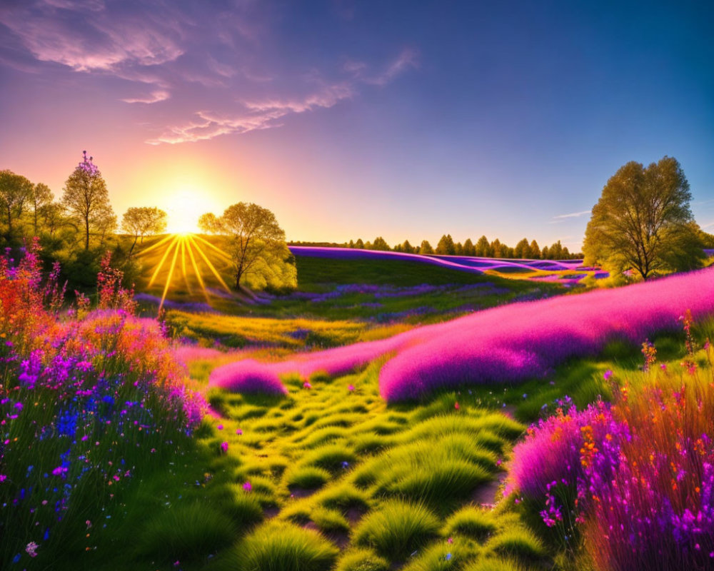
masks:
<svg viewBox="0 0 714 571"><path fill-rule="evenodd" d="M645 280L660 271L699 267L703 251L691 198L675 158L664 156L647 168L635 161L620 167L585 229L585 264L618 273L633 269Z"/></svg>

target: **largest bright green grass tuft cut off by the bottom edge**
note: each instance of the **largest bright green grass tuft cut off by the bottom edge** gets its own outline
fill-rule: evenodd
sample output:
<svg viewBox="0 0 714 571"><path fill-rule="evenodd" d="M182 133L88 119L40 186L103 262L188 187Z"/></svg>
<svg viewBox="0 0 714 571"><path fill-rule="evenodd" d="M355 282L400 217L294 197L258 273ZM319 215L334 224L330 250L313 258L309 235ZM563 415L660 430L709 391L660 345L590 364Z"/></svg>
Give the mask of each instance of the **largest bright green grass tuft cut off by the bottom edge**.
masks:
<svg viewBox="0 0 714 571"><path fill-rule="evenodd" d="M236 571L328 571L338 549L321 535L288 522L258 527L226 557Z"/></svg>

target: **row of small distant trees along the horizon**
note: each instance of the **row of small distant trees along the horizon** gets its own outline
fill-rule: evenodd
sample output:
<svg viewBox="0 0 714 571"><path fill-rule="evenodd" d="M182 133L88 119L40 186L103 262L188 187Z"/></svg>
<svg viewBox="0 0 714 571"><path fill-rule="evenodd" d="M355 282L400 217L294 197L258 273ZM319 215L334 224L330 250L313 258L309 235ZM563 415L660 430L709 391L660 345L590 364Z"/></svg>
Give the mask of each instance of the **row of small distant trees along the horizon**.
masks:
<svg viewBox="0 0 714 571"><path fill-rule="evenodd" d="M305 246L306 242L293 242L293 244ZM413 254L436 254L438 256L478 256L479 258L523 258L523 259L543 259L543 260L567 260L582 257L580 253L570 253L568 248L560 243L560 240L551 246L545 246L542 250L535 240L528 242L523 238L514 248L502 243L498 238L489 242L486 236L478 238L476 243L468 238L463 244L454 243L451 234L445 234L439 239L436 248L431 246L428 240L421 242L420 246L412 246L408 240L397 244L393 248L381 236L377 236L373 241L363 242L361 238L348 243L309 243L311 246L333 246L336 248L357 248L364 250L381 250L404 252Z"/></svg>

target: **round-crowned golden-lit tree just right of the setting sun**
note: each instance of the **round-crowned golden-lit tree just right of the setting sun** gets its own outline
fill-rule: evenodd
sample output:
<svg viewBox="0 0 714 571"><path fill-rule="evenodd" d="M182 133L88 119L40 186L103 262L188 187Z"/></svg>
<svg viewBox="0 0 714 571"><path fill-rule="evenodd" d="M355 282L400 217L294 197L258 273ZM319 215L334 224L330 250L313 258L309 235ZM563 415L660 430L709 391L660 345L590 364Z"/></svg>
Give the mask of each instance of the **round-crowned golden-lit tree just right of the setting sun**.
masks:
<svg viewBox="0 0 714 571"><path fill-rule="evenodd" d="M236 289L241 288L241 278L252 271L261 258L286 249L285 232L278 226L275 214L257 204L239 202L228 206L220 218L204 214L199 218L199 225L201 221L228 239Z"/></svg>

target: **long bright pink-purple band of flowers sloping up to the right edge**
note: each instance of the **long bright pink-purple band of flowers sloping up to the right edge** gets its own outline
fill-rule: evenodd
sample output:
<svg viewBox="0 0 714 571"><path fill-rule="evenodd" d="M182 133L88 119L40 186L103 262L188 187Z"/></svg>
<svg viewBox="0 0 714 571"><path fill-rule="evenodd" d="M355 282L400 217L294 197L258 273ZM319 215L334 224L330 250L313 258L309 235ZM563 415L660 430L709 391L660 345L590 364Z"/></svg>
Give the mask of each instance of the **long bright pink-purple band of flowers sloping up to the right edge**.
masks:
<svg viewBox="0 0 714 571"><path fill-rule="evenodd" d="M609 340L639 343L657 330L676 328L685 308L695 318L714 313L714 269L615 290L515 303L385 340L259 366L273 375L340 375L393 353L381 370L380 392L388 401L408 400L463 383L543 376L568 358L597 353ZM216 368L210 382L237 388L246 374L244 367L231 363Z"/></svg>

